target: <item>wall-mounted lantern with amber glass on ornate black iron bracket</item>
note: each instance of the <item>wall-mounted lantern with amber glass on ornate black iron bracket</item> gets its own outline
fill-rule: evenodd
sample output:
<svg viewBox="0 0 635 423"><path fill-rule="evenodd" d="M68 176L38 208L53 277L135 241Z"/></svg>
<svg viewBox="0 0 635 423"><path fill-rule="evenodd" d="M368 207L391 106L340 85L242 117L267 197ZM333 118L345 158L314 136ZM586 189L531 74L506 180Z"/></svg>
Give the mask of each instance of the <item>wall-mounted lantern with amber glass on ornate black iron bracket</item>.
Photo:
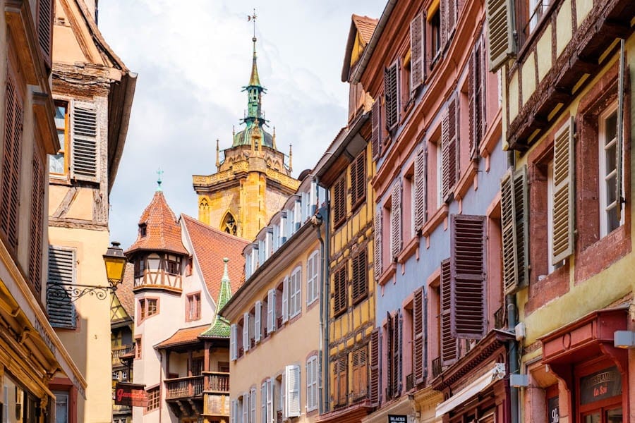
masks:
<svg viewBox="0 0 635 423"><path fill-rule="evenodd" d="M123 255L123 250L119 247L119 243L113 241L103 257L104 264L106 265L108 286L49 282L47 286L48 295L68 302L74 302L86 294L95 295L99 300L104 300L107 297L108 291L115 291L117 285L121 283L123 272L126 271L126 256Z"/></svg>

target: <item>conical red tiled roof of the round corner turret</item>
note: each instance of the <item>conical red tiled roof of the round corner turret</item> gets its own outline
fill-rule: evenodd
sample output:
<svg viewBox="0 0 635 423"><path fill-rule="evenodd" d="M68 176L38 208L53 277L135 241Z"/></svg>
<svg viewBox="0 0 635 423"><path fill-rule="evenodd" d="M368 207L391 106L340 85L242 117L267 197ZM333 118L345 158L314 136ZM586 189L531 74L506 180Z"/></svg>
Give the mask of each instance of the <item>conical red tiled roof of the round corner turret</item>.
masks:
<svg viewBox="0 0 635 423"><path fill-rule="evenodd" d="M147 205L139 224L145 223L145 236L141 232L137 240L128 248L126 255L138 250L167 251L180 255L189 255L181 242L181 225L176 221L162 191L155 192L152 201Z"/></svg>

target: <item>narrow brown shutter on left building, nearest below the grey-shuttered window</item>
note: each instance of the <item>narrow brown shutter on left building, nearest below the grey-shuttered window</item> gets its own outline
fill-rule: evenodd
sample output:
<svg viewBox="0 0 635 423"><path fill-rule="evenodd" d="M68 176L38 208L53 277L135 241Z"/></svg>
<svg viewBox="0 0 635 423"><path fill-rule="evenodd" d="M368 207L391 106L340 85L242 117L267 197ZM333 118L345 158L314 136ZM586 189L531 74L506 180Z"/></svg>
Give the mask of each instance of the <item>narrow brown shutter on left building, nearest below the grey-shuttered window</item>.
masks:
<svg viewBox="0 0 635 423"><path fill-rule="evenodd" d="M29 281L36 298L42 293L42 228L44 227L44 165L33 151L31 192L31 228L29 245Z"/></svg>

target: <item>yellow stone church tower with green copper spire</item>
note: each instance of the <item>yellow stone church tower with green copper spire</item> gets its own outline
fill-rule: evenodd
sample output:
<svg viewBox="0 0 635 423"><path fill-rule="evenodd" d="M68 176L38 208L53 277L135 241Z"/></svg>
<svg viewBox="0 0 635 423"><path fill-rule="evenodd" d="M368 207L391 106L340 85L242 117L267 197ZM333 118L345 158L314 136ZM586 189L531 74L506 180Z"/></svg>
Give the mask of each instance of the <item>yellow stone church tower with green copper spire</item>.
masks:
<svg viewBox="0 0 635 423"><path fill-rule="evenodd" d="M253 63L247 92L247 113L241 120L243 130L233 133L231 147L224 149L220 159L216 144L217 172L193 176L198 194L198 219L221 231L251 240L273 214L298 189L300 181L291 178L291 147L289 160L276 148L276 130L267 130L268 121L262 114L262 94L256 63L256 37L253 39Z"/></svg>

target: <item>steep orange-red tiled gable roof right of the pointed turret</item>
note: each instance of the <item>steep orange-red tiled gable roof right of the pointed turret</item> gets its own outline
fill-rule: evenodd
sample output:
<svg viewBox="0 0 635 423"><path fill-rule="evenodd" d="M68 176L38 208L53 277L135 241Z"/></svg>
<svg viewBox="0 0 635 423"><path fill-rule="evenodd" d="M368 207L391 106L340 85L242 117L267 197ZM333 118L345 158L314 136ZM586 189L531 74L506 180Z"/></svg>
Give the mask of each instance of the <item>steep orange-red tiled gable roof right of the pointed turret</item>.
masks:
<svg viewBox="0 0 635 423"><path fill-rule="evenodd" d="M185 222L205 285L214 302L218 301L220 293L224 257L229 258L227 269L231 293L235 293L241 286L245 270L242 252L248 241L212 228L186 214L181 214L181 219Z"/></svg>

